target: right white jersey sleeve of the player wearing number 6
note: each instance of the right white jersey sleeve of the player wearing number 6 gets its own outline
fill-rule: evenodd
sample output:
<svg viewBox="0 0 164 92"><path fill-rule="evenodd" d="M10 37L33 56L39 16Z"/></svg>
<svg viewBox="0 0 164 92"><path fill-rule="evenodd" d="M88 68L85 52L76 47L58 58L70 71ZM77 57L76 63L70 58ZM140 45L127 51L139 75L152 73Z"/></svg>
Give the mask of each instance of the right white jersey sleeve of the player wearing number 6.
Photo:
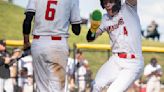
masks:
<svg viewBox="0 0 164 92"><path fill-rule="evenodd" d="M79 0L74 0L72 2L72 7L71 7L71 24L79 24L81 23L81 17L80 17L80 9L79 9Z"/></svg>

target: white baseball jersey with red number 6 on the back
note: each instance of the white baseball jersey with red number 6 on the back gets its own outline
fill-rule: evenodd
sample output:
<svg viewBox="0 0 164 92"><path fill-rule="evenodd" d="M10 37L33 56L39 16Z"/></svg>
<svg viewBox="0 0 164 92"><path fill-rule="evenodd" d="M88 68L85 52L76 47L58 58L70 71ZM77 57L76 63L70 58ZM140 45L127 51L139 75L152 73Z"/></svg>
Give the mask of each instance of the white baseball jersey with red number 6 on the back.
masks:
<svg viewBox="0 0 164 92"><path fill-rule="evenodd" d="M81 23L79 0L29 0L28 11L35 12L33 35L68 37L70 22Z"/></svg>

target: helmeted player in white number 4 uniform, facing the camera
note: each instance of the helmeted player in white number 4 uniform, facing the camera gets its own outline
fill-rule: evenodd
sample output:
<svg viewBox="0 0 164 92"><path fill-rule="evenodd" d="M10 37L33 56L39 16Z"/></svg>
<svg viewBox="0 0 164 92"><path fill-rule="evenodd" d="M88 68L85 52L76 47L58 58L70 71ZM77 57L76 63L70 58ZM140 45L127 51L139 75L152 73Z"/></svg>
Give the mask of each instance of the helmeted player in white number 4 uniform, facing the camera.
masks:
<svg viewBox="0 0 164 92"><path fill-rule="evenodd" d="M112 56L99 69L92 91L101 92L107 88L107 92L126 92L140 77L144 66L137 0L122 3L121 0L100 1L107 13L103 15L100 26L98 22L91 21L87 40L91 42L106 31L110 37Z"/></svg>

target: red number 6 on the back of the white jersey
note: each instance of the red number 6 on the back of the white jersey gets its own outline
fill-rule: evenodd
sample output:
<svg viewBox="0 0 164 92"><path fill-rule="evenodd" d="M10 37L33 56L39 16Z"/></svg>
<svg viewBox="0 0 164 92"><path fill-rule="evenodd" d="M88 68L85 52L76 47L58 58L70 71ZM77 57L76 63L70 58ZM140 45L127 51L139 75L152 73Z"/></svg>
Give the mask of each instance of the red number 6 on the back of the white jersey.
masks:
<svg viewBox="0 0 164 92"><path fill-rule="evenodd" d="M45 19L52 21L55 19L55 8L51 8L51 5L57 5L57 1L48 1L47 2L47 9L45 14Z"/></svg>

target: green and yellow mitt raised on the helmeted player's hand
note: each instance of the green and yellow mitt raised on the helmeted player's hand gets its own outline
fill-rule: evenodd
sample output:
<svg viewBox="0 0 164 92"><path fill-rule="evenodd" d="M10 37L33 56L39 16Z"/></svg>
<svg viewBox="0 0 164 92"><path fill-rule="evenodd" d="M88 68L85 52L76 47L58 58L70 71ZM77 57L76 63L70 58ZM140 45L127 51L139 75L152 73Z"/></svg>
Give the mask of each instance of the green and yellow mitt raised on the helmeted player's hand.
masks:
<svg viewBox="0 0 164 92"><path fill-rule="evenodd" d="M101 19L102 19L102 13L100 12L100 10L94 10L90 16L90 20L91 20L90 31L92 33L96 33L97 29L101 24Z"/></svg>

